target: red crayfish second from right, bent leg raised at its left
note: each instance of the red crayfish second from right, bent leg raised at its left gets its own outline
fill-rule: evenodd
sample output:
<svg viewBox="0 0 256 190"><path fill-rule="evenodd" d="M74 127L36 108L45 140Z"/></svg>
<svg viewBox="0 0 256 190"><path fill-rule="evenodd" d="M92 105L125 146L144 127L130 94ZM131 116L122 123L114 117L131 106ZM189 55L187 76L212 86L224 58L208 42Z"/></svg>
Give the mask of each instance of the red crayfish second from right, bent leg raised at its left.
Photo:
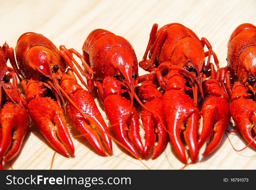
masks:
<svg viewBox="0 0 256 190"><path fill-rule="evenodd" d="M220 144L221 138L219 136L223 136L229 121L227 91L225 86L219 84L222 77L216 78L215 76L214 66L210 63L211 55L214 57L217 68L219 68L218 59L206 38L200 40L192 30L179 23L167 24L159 30L157 28L158 25L154 24L143 60L139 62L139 66L156 75L160 86L166 90L163 95L163 110L170 140L179 158L182 162L187 163L185 147L180 138L181 131L185 130L184 138L189 146L191 162L194 163L200 147L213 132L212 126L214 126L215 134L211 146L208 146L204 155L214 151ZM207 52L204 51L205 45L209 50ZM148 52L149 59L147 59ZM205 65L205 57L207 56L208 60ZM210 96L205 100L202 107L203 132L198 141L199 119L201 117L197 108L198 87L203 95L202 82L206 80L206 76L210 75L209 70L215 74L211 75L211 82L205 82L204 91L206 91L206 95ZM194 101L185 93L185 91L191 90L186 86L186 82L189 82L193 90ZM219 115L215 114L215 110L222 107L217 97L223 98L225 103L223 107L227 110L226 115L220 118ZM207 110L209 106L212 109Z"/></svg>

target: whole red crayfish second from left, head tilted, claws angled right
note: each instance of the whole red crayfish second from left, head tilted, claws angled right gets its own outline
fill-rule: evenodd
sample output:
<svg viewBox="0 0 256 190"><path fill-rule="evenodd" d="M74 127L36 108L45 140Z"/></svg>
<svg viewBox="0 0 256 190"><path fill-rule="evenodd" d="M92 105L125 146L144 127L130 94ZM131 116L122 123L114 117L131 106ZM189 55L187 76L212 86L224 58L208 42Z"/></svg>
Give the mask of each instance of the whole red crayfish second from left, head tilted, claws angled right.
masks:
<svg viewBox="0 0 256 190"><path fill-rule="evenodd" d="M82 56L74 49L67 50L60 46L60 50L41 34L27 32L21 35L15 48L17 64L13 49L8 51L12 57L11 64L18 74L27 81L22 81L22 86L28 101L28 111L33 122L46 137L56 151L66 157L74 155L74 146L68 133L67 124L61 108L62 94L69 100L67 110L70 121L83 133L100 155L106 156L102 146L99 131L109 153L112 152L111 139L107 126L90 93L84 90L74 77L73 72L82 84L88 88L80 73L88 80L93 78L93 73L88 67L87 75L75 61L72 53L85 62ZM74 64L81 71L74 67ZM67 67L70 67L65 72ZM90 83L88 83L90 85ZM50 97L46 88L54 93L57 102ZM90 89L90 88L88 88ZM61 91L61 92L60 92ZM65 107L65 105L64 105Z"/></svg>

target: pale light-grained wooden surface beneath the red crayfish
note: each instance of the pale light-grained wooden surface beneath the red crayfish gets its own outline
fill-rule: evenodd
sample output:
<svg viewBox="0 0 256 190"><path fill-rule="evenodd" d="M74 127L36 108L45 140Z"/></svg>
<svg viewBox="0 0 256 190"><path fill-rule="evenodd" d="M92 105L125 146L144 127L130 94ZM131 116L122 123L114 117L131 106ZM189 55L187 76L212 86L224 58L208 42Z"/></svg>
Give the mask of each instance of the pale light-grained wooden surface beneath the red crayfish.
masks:
<svg viewBox="0 0 256 190"><path fill-rule="evenodd" d="M45 35L58 47L65 45L80 53L87 35L96 28L110 30L125 37L134 47L140 61L145 52L150 30L178 22L191 28L199 38L206 37L218 55L220 65L227 64L227 42L232 31L241 23L256 24L256 1L1 1L0 43L15 47L24 32ZM78 59L77 59L78 60ZM147 73L139 68L139 74ZM93 93L93 95L96 94ZM95 101L98 99L95 98ZM99 104L98 104L99 105ZM100 109L102 111L102 106ZM102 115L106 115L102 111ZM68 119L67 119L68 120ZM106 119L106 123L109 124ZM231 127L229 126L231 129ZM142 130L141 130L142 131ZM70 127L72 136L79 134ZM143 134L142 134L143 136ZM241 149L245 142L241 135L229 134L232 144ZM113 155L99 156L85 138L72 138L74 158L56 154L53 169L180 169L183 167L170 143L156 160L132 158L113 143ZM235 152L227 137L213 154L191 164L186 169L256 169L255 151L247 148ZM13 160L13 169L49 169L54 151L31 122L20 154ZM5 163L4 169L10 169Z"/></svg>

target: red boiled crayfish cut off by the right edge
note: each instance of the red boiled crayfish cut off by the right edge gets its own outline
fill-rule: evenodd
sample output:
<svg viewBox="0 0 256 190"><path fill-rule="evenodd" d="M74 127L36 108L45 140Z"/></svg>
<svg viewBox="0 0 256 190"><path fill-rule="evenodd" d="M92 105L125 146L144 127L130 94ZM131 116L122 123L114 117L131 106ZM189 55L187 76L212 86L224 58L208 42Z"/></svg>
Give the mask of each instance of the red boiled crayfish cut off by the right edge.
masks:
<svg viewBox="0 0 256 190"><path fill-rule="evenodd" d="M256 27L249 23L238 26L228 42L227 66L233 79L230 113L238 129L256 149ZM231 84L227 79L227 88ZM253 99L250 99L250 96ZM253 101L254 100L254 101Z"/></svg>

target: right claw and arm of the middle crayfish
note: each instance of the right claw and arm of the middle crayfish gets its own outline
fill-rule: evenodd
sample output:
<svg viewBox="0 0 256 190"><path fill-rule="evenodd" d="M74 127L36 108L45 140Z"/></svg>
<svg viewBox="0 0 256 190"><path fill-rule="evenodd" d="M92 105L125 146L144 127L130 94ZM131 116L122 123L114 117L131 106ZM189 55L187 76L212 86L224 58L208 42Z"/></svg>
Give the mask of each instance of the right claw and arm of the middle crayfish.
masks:
<svg viewBox="0 0 256 190"><path fill-rule="evenodd" d="M166 124L163 115L163 95L153 84L154 75L152 76L152 80L145 81L138 87L138 97L141 101L145 102L144 106L147 109L143 108L141 112L141 120L145 131L145 147L143 154L144 157L147 157L154 146L154 143L157 141L157 145L153 147L151 156L152 159L155 159L161 154L166 145L167 132L164 129L166 128ZM155 115L150 111L154 111L158 115Z"/></svg>

